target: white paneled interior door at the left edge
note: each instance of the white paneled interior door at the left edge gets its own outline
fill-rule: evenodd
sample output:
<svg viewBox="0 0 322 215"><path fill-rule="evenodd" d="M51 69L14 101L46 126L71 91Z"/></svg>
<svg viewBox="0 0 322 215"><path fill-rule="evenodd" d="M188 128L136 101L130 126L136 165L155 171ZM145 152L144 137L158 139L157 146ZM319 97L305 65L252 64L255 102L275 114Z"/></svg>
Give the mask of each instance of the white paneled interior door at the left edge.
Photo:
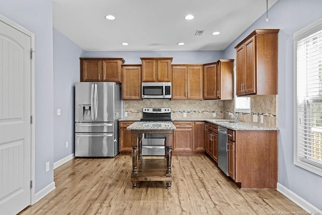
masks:
<svg viewBox="0 0 322 215"><path fill-rule="evenodd" d="M0 16L0 213L31 203L32 38Z"/></svg>

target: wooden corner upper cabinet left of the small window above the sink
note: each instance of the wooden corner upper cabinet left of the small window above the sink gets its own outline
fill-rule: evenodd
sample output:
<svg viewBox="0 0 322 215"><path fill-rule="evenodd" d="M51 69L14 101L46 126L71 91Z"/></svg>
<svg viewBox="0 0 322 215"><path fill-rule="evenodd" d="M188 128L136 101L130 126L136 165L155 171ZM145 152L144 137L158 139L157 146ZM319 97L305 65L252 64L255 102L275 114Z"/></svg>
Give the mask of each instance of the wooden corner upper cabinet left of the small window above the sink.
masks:
<svg viewBox="0 0 322 215"><path fill-rule="evenodd" d="M233 59L204 64L204 99L233 99Z"/></svg>

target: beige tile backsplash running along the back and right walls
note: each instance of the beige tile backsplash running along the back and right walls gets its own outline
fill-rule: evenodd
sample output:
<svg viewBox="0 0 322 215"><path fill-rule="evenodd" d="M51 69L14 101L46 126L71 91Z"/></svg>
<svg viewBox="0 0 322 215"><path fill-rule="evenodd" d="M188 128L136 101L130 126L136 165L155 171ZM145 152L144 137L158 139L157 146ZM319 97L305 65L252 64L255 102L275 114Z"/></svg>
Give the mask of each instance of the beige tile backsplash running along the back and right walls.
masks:
<svg viewBox="0 0 322 215"><path fill-rule="evenodd" d="M261 115L264 124L270 126L277 125L277 95L252 96L251 113L238 113L239 121L253 122L253 116L258 115L260 125ZM227 118L229 112L234 112L234 100L170 100L170 99L143 99L125 100L124 112L127 113L125 119L142 118L143 107L169 107L171 108L171 118L189 119L209 119ZM187 113L187 117L184 117ZM214 117L215 113L215 117Z"/></svg>

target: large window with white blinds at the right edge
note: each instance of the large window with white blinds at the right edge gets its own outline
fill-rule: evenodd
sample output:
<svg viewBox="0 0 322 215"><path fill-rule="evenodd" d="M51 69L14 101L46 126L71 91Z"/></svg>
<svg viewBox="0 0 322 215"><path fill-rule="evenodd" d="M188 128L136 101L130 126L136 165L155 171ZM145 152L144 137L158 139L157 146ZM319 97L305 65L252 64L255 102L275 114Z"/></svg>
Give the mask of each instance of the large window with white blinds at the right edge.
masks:
<svg viewBox="0 0 322 215"><path fill-rule="evenodd" d="M294 164L322 176L322 19L294 33Z"/></svg>

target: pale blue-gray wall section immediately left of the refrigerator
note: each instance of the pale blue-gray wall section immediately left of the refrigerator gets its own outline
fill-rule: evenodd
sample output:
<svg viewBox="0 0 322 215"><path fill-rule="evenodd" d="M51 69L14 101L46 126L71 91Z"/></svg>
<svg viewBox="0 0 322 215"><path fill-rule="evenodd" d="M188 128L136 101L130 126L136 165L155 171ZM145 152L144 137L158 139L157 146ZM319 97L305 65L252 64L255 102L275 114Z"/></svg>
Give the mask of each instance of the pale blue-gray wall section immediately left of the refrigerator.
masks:
<svg viewBox="0 0 322 215"><path fill-rule="evenodd" d="M74 86L83 49L53 29L54 162L74 153ZM56 110L61 115L57 116ZM68 148L66 148L68 141Z"/></svg>

